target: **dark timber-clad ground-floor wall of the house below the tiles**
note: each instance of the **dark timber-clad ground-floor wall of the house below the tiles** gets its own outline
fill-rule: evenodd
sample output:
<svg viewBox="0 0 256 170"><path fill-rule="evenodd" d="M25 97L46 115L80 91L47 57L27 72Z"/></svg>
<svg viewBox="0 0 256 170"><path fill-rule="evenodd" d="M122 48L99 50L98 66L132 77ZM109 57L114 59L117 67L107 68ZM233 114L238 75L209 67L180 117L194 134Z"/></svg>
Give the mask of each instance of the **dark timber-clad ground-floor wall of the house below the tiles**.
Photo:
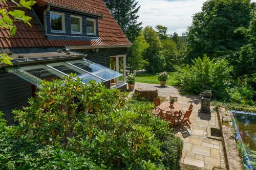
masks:
<svg viewBox="0 0 256 170"><path fill-rule="evenodd" d="M87 59L95 63L110 67L110 56L126 55L127 48L99 48L99 51L77 50L88 54ZM110 82L106 82L110 87ZM13 124L12 110L28 106L28 99L32 96L31 84L18 76L0 68L0 110L6 115L8 124Z"/></svg>

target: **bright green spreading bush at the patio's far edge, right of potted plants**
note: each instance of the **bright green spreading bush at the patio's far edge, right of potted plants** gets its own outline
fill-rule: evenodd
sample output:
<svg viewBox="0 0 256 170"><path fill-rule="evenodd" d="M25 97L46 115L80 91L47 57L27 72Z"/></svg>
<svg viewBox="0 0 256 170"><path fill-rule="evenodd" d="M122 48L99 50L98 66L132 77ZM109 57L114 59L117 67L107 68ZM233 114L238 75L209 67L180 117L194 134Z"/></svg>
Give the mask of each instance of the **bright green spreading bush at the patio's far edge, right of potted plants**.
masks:
<svg viewBox="0 0 256 170"><path fill-rule="evenodd" d="M204 90L201 84L225 91L230 79L232 67L224 59L210 60L206 55L193 60L194 65L177 67L180 85L189 92L199 93ZM200 84L201 83L201 84Z"/></svg>

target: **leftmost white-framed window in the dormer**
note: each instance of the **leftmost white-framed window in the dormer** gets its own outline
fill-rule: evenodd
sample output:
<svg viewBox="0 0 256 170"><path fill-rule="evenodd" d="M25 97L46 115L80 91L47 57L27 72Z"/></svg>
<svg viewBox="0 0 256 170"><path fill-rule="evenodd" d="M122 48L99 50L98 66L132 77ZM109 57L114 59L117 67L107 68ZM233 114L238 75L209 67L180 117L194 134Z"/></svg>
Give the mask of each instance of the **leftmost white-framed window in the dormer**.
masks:
<svg viewBox="0 0 256 170"><path fill-rule="evenodd" d="M64 13L50 11L50 18L53 33L66 33Z"/></svg>

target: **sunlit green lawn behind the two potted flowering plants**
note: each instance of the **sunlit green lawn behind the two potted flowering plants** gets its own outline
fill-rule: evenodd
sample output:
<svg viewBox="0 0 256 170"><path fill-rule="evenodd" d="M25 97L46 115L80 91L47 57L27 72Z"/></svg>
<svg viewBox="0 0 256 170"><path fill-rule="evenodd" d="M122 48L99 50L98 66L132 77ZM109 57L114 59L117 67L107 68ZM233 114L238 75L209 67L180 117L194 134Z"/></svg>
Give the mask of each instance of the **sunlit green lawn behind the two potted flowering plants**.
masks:
<svg viewBox="0 0 256 170"><path fill-rule="evenodd" d="M175 86L177 85L177 75L176 72L168 72L168 75L170 75L169 80L167 80L166 85L169 86ZM150 83L150 84L160 84L160 82L157 80L157 75L148 73L148 72L140 72L136 74L135 82L140 83Z"/></svg>

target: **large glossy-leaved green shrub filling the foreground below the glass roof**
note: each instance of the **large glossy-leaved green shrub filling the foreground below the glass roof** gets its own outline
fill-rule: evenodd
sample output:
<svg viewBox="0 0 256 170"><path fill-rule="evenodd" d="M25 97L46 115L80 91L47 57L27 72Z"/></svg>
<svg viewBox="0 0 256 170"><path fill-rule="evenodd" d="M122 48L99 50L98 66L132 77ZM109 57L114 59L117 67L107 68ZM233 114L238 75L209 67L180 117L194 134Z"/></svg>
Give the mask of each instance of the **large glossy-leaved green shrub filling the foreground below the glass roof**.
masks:
<svg viewBox="0 0 256 170"><path fill-rule="evenodd" d="M42 82L30 106L1 124L0 167L10 169L177 169L182 140L148 103L71 77ZM171 149L162 148L173 143ZM172 163L165 160L172 156ZM68 166L66 166L68 164Z"/></svg>

